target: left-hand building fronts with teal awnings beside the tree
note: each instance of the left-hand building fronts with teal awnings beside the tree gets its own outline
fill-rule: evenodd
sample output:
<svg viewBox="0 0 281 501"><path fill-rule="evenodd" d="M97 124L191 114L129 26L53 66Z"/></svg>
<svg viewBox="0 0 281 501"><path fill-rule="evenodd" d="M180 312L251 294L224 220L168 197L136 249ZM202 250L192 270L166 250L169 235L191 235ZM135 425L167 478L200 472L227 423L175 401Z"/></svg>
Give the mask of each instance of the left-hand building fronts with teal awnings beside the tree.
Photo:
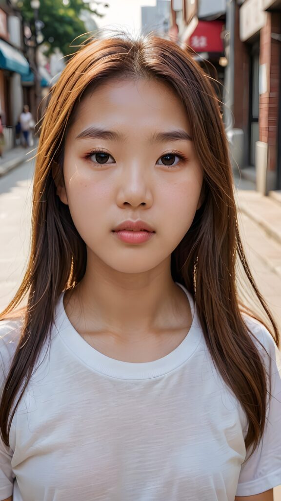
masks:
<svg viewBox="0 0 281 501"><path fill-rule="evenodd" d="M38 102L41 102L51 86L51 76L44 66L45 61L44 64L41 62L41 46L38 47L34 42L34 33L23 22L16 4L14 0L0 2L0 113L5 149L16 144L15 125L23 105L29 106L37 122L41 110Z"/></svg>

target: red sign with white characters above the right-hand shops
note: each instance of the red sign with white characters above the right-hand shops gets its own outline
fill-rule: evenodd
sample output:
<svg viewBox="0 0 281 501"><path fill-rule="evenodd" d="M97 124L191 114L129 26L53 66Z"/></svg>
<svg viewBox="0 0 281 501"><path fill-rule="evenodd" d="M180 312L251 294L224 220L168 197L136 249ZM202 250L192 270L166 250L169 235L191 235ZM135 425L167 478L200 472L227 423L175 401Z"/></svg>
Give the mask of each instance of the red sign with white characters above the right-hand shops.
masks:
<svg viewBox="0 0 281 501"><path fill-rule="evenodd" d="M199 21L187 44L196 52L223 52L223 21Z"/></svg>

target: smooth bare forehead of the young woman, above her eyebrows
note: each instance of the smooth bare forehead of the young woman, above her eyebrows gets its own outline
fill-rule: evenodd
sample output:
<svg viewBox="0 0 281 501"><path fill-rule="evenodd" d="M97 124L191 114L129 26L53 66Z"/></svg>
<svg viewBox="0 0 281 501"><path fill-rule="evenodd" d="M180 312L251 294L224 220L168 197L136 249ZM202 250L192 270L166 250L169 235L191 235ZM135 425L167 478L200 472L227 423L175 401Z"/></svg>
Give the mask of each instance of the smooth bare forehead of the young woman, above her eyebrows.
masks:
<svg viewBox="0 0 281 501"><path fill-rule="evenodd" d="M186 111L167 84L156 79L113 79L89 90L78 103L72 128L98 123L109 128L189 129Z"/></svg>

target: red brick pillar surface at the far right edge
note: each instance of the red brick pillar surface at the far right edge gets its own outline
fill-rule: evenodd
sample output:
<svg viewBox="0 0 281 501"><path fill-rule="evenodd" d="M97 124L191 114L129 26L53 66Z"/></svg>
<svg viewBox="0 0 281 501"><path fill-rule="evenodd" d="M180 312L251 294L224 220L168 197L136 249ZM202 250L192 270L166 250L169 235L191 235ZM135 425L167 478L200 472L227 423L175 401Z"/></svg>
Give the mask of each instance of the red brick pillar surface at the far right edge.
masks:
<svg viewBox="0 0 281 501"><path fill-rule="evenodd" d="M281 33L280 14L268 14L265 26L260 30L259 64L266 64L267 92L259 97L259 140L268 143L268 170L276 169L277 121L279 99L279 51L280 42L271 38Z"/></svg>

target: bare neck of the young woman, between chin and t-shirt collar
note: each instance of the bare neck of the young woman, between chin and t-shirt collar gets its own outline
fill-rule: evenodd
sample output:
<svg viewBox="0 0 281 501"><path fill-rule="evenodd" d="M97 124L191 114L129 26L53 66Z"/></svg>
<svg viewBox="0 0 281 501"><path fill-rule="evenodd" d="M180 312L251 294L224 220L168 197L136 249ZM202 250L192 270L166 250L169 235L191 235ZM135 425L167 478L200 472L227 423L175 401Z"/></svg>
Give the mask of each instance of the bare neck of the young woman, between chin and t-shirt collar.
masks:
<svg viewBox="0 0 281 501"><path fill-rule="evenodd" d="M66 298L87 332L109 331L139 338L174 328L190 313L188 299L172 280L170 258L144 273L121 273L89 259L86 273Z"/></svg>

